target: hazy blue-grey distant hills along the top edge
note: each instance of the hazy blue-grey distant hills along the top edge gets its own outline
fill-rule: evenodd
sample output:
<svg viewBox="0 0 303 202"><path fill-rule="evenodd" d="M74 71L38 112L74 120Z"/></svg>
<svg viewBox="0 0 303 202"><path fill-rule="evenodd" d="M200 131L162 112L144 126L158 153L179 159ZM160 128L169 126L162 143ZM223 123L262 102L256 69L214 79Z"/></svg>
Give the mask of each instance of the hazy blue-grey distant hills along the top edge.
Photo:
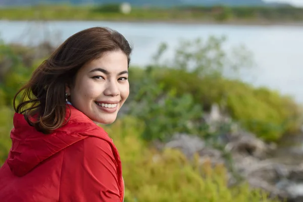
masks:
<svg viewBox="0 0 303 202"><path fill-rule="evenodd" d="M0 0L0 6L30 6L37 4L116 4L128 2L132 6L172 7L172 6L285 6L285 4L267 4L263 0ZM290 5L286 5L290 6Z"/></svg>

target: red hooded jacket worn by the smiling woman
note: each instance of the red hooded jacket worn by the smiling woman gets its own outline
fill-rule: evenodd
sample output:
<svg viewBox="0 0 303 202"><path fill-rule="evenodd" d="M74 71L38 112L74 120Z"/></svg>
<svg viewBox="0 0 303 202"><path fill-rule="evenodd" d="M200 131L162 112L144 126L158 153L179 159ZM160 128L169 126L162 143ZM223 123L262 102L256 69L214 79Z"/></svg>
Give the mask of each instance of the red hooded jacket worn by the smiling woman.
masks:
<svg viewBox="0 0 303 202"><path fill-rule="evenodd" d="M102 128L70 108L68 124L48 135L15 114L12 148L0 168L0 201L123 201L116 146Z"/></svg>

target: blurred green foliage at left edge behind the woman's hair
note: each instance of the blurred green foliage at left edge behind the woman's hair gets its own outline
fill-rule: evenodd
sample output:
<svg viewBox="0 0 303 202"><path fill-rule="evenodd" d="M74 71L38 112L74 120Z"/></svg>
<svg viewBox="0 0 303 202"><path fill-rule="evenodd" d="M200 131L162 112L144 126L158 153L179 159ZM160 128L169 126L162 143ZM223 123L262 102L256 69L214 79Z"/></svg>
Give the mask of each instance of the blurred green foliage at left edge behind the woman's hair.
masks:
<svg viewBox="0 0 303 202"><path fill-rule="evenodd" d="M24 67L23 55L27 52L21 49L0 41L0 165L6 160L11 147L13 97L20 88L20 82L28 79L31 73Z"/></svg>

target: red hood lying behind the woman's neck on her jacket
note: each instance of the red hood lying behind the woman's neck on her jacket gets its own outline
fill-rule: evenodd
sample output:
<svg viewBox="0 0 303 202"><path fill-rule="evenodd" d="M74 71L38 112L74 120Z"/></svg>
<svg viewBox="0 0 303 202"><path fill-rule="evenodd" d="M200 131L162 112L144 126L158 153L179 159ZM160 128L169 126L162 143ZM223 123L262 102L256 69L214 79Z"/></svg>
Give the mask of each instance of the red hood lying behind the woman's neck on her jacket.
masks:
<svg viewBox="0 0 303 202"><path fill-rule="evenodd" d="M11 131L12 148L7 164L16 176L24 176L42 161L57 154L62 149L88 136L96 136L111 142L107 133L93 123L76 108L67 107L66 120L63 127L51 134L38 132L30 126L22 114L15 113L14 128ZM92 132L96 130L96 132Z"/></svg>

